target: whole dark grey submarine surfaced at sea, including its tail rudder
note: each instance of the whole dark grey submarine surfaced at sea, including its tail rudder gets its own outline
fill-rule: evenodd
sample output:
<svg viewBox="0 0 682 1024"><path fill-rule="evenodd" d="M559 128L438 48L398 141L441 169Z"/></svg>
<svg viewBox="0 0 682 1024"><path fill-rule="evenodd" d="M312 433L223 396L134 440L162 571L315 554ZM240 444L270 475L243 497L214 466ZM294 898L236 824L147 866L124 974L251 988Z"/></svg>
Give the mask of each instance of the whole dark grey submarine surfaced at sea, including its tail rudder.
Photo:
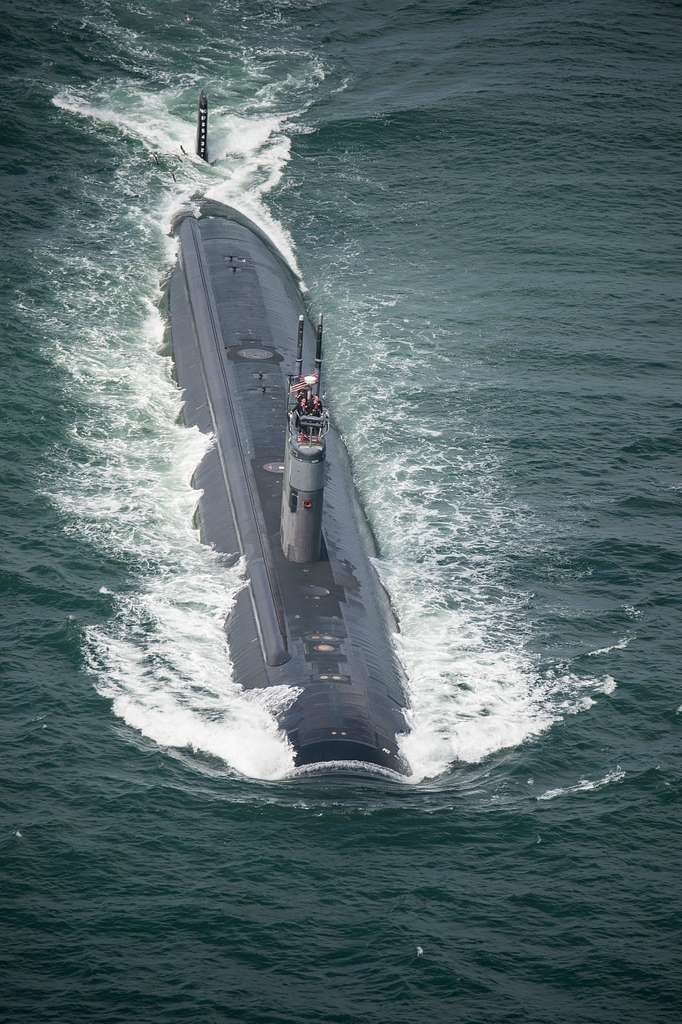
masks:
<svg viewBox="0 0 682 1024"><path fill-rule="evenodd" d="M202 92L204 160L207 137ZM214 439L193 476L197 524L245 574L225 624L233 679L290 688L278 721L297 767L404 775L398 627L348 453L321 409L323 319L312 323L296 274L239 212L207 201L173 232L167 311L182 418Z"/></svg>

